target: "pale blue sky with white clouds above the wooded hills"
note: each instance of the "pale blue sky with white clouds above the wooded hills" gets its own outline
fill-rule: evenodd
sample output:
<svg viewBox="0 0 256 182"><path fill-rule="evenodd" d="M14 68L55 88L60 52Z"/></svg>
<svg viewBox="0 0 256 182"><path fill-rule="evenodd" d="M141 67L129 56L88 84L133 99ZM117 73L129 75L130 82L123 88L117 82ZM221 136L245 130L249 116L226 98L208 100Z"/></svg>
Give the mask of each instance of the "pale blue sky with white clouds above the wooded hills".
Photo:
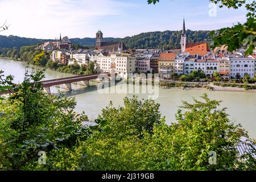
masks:
<svg viewBox="0 0 256 182"><path fill-rule="evenodd" d="M0 24L11 24L0 35L55 39L124 38L142 32L181 30L183 17L189 30L216 30L246 20L246 9L213 6L209 0L0 0Z"/></svg>

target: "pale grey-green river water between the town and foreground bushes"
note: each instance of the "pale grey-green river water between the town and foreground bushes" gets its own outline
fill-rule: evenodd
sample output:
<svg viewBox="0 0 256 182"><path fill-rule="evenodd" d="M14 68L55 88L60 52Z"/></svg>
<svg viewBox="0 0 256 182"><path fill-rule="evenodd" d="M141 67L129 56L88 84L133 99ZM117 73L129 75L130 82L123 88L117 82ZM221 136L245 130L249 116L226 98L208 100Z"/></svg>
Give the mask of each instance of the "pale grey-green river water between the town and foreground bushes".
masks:
<svg viewBox="0 0 256 182"><path fill-rule="evenodd" d="M5 75L13 75L16 83L24 78L26 63L14 60L1 60L0 70L5 71ZM59 73L46 70L46 78L63 78L72 76L67 73ZM72 91L65 92L67 97L75 97L76 111L85 111L90 119L96 119L101 110L112 101L114 106L123 105L124 97L133 97L133 94L100 94L97 90L97 83L90 82L90 87L72 84ZM61 89L60 89L61 90ZM57 93L56 88L51 88L53 93ZM159 89L159 97L156 102L160 104L162 116L166 117L167 123L175 122L175 114L182 101L193 102L193 97L199 98L207 93L210 99L221 100L221 107L228 107L229 118L241 123L242 127L249 132L250 137L256 139L256 93L250 92L212 92L208 90L180 90L180 89ZM147 94L135 94L138 98L148 98Z"/></svg>

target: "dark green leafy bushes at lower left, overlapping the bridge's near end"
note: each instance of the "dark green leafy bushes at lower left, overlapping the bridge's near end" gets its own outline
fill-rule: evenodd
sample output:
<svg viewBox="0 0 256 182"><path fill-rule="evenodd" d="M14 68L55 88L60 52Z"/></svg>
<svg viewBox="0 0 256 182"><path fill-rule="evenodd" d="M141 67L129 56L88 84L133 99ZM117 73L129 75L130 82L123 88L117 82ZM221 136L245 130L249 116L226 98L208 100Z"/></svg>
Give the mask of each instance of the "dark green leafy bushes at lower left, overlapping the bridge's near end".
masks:
<svg viewBox="0 0 256 182"><path fill-rule="evenodd" d="M65 155L86 138L81 121L87 117L77 117L73 111L75 98L44 94L38 82L42 73L30 75L26 71L22 84L14 84L13 94L0 101L0 112L5 113L0 117L1 169L42 169L39 151L48 154L46 169L68 169Z"/></svg>

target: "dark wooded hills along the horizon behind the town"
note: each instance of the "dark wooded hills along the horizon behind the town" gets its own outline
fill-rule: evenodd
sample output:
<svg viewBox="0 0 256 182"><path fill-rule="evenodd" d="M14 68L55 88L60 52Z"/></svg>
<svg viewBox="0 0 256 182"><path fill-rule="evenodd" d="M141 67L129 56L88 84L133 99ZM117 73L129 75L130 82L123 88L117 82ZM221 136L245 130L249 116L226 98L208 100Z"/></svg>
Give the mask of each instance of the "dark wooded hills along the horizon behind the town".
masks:
<svg viewBox="0 0 256 182"><path fill-rule="evenodd" d="M187 30L187 42L209 42L210 31L191 31ZM180 47L180 36L181 31L155 31L146 32L139 35L127 36L126 38L104 38L104 42L122 41L129 49L171 49ZM32 39L32 38L21 38L19 36L0 36L0 47L20 48L22 46L31 46L36 44L42 44L43 42L54 41L51 39ZM95 38L75 38L70 39L73 44L79 46L94 46Z"/></svg>

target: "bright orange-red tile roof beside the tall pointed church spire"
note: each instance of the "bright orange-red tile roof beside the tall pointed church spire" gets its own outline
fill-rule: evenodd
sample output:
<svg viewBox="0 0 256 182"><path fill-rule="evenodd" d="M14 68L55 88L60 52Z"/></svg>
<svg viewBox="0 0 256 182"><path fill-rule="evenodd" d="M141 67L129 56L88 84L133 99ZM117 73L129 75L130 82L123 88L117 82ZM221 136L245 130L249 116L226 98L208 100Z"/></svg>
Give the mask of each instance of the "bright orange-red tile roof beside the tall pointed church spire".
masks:
<svg viewBox="0 0 256 182"><path fill-rule="evenodd" d="M207 52L210 52L210 49L207 43L188 43L185 52L189 52L190 55L204 56Z"/></svg>

